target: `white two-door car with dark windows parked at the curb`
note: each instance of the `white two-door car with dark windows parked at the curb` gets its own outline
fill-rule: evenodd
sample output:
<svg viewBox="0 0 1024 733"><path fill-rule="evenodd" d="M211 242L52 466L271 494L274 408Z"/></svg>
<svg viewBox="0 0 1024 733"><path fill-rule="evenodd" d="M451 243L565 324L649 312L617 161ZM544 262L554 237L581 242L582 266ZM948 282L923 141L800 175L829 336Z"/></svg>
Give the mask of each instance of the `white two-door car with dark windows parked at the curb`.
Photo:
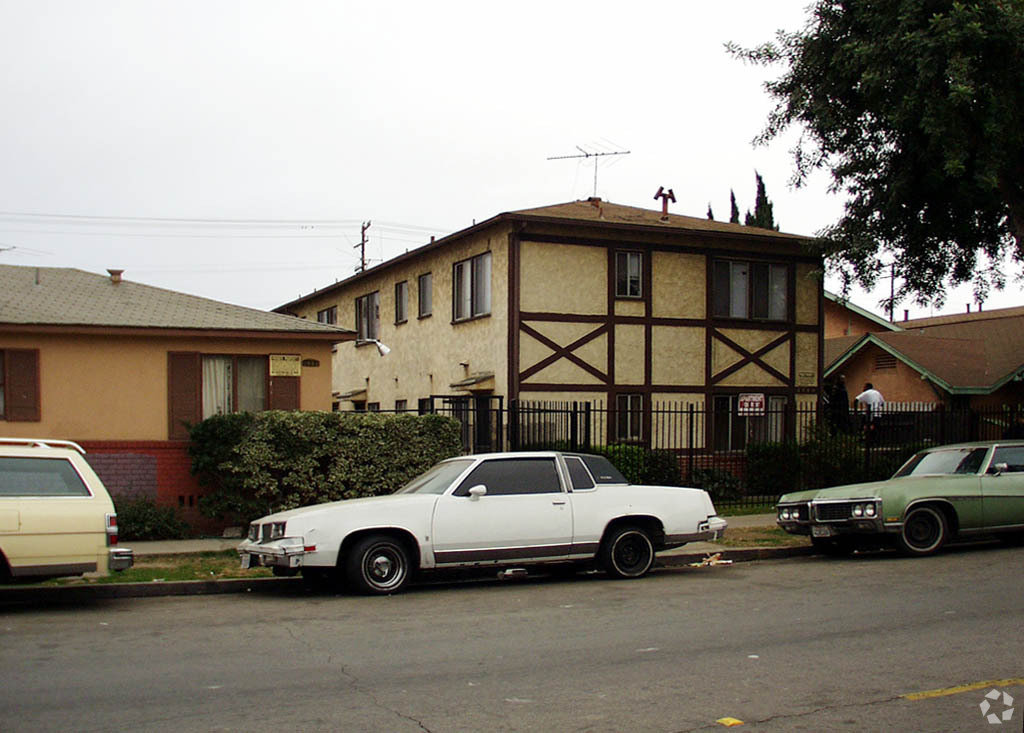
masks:
<svg viewBox="0 0 1024 733"><path fill-rule="evenodd" d="M293 509L249 526L243 567L400 591L420 570L596 564L641 577L654 553L723 534L706 491L630 485L599 456L516 452L443 461L385 497Z"/></svg>

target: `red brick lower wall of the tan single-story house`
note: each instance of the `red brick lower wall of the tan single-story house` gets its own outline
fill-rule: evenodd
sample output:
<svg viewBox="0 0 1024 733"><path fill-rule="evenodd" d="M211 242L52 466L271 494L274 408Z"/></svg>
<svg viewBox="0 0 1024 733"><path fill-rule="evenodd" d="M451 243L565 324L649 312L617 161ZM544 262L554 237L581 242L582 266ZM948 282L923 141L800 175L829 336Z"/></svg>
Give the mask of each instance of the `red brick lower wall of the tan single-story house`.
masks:
<svg viewBox="0 0 1024 733"><path fill-rule="evenodd" d="M138 495L174 507L197 534L219 534L223 523L200 514L206 489L189 468L183 441L80 440L92 470L112 497Z"/></svg>

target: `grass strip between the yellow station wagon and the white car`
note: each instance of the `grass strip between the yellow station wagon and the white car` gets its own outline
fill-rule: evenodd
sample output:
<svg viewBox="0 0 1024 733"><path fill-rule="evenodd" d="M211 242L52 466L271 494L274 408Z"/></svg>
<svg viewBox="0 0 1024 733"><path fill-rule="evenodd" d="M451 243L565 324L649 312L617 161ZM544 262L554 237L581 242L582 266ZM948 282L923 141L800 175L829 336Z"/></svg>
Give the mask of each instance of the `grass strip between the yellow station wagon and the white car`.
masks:
<svg viewBox="0 0 1024 733"><path fill-rule="evenodd" d="M135 565L123 572L97 577L58 578L49 580L46 585L222 580L231 577L270 577L272 574L267 567L243 570L239 554L233 550L224 550L176 555L136 555Z"/></svg>

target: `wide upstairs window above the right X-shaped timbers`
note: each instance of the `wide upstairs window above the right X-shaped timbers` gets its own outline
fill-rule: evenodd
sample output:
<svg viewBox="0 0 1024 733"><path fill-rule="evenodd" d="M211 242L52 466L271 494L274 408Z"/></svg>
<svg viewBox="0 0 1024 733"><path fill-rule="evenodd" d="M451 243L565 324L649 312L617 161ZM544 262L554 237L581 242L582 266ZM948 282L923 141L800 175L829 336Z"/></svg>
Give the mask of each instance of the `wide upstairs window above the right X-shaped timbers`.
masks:
<svg viewBox="0 0 1024 733"><path fill-rule="evenodd" d="M716 317L785 320L788 317L788 267L767 262L715 262Z"/></svg>

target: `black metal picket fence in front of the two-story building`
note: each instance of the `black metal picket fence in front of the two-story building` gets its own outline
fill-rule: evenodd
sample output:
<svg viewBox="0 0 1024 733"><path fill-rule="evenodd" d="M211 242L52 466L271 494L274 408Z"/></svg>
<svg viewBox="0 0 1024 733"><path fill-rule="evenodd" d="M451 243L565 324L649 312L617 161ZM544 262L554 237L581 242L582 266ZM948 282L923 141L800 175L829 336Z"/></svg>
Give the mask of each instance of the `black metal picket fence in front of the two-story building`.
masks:
<svg viewBox="0 0 1024 733"><path fill-rule="evenodd" d="M639 406L639 405L638 405ZM891 476L922 447L996 440L1024 425L1024 405L989 409L737 406L664 402L646 412L601 402L435 397L421 411L463 425L467 452L561 449L607 455L639 483L699 486L716 506L773 504L787 491ZM1016 428L1019 430L1020 428Z"/></svg>

